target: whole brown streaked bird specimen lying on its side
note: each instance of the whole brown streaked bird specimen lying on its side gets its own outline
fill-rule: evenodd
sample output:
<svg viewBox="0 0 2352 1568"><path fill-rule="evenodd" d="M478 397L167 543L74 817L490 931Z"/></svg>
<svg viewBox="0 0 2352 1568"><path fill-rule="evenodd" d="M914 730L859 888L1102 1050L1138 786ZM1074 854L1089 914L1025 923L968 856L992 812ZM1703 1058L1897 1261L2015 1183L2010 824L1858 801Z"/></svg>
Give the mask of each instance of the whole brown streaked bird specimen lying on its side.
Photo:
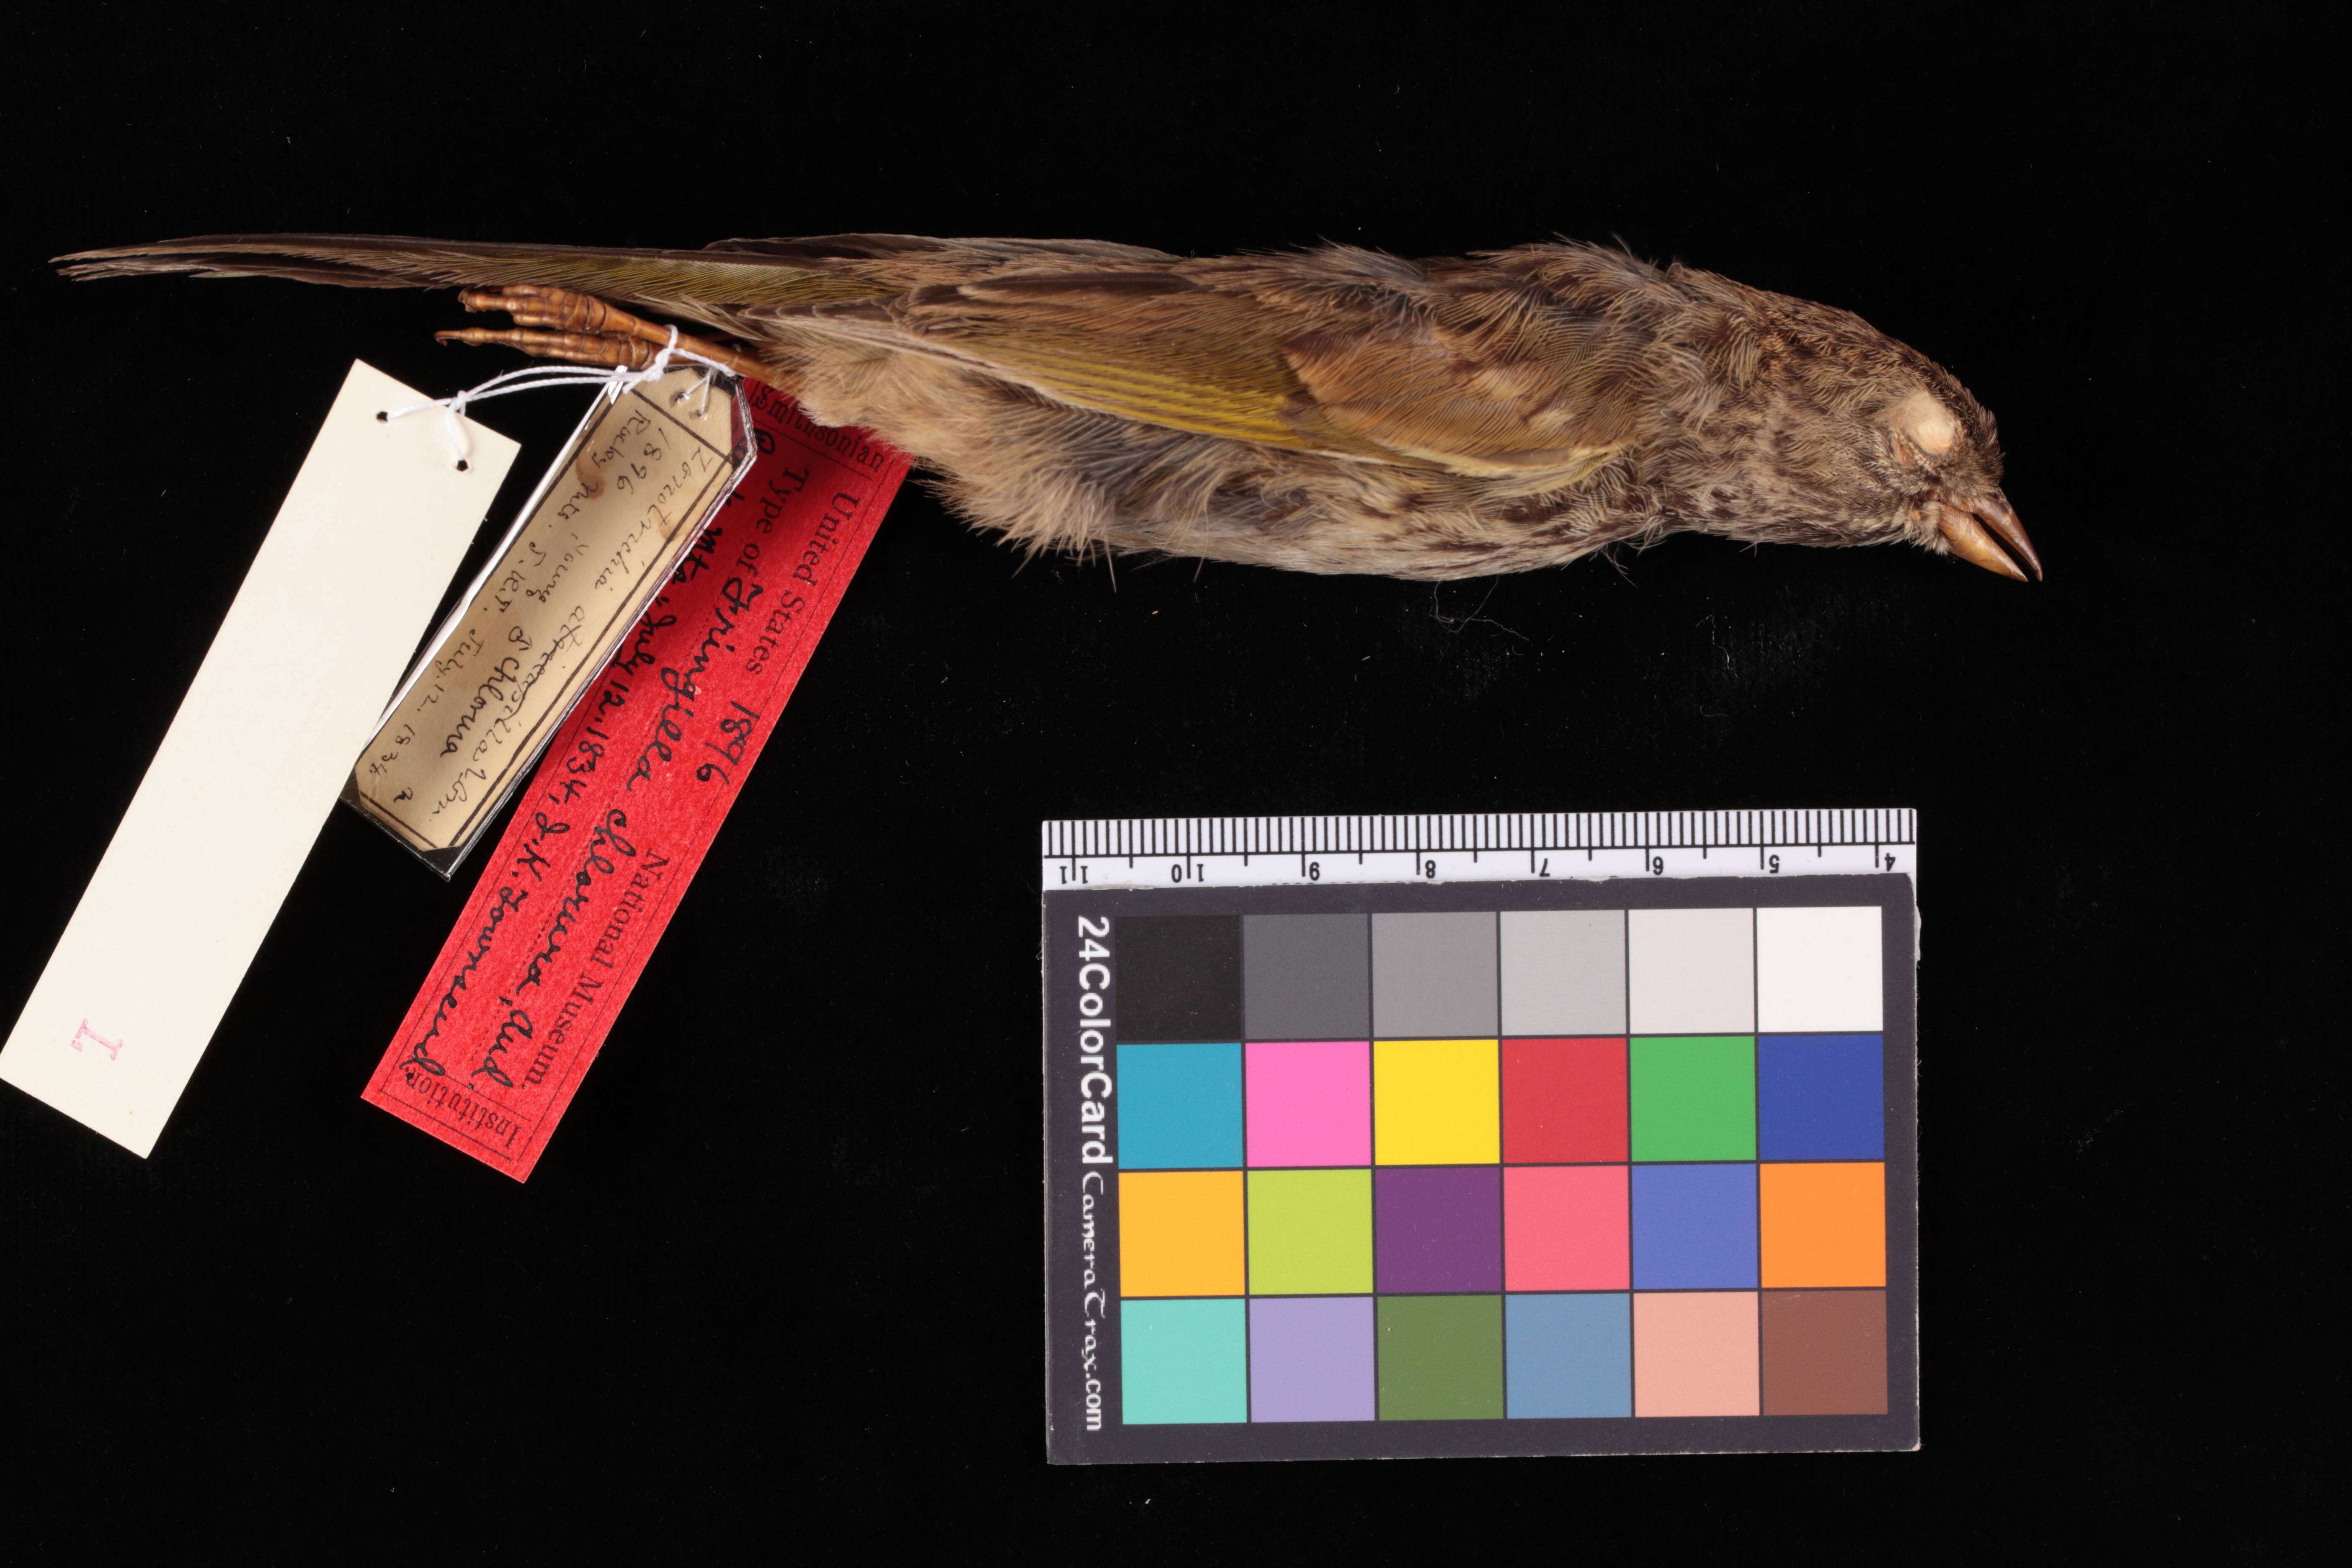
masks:
<svg viewBox="0 0 2352 1568"><path fill-rule="evenodd" d="M823 235L703 252L216 235L61 256L461 287L581 364L680 339L866 425L1033 550L1461 578L1691 529L1907 541L2042 574L1992 414L1860 317L1592 244L1399 261L1327 244L1178 259L1089 240Z"/></svg>

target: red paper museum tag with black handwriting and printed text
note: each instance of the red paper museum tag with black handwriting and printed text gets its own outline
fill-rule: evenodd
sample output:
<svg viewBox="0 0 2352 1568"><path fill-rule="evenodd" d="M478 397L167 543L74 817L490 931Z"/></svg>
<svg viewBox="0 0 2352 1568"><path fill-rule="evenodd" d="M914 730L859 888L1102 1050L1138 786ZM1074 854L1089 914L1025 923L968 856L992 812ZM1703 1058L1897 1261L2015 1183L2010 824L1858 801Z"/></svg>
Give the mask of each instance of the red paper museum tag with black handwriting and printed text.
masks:
<svg viewBox="0 0 2352 1568"><path fill-rule="evenodd" d="M776 726L906 458L748 383L760 456L517 795L367 1100L524 1180Z"/></svg>

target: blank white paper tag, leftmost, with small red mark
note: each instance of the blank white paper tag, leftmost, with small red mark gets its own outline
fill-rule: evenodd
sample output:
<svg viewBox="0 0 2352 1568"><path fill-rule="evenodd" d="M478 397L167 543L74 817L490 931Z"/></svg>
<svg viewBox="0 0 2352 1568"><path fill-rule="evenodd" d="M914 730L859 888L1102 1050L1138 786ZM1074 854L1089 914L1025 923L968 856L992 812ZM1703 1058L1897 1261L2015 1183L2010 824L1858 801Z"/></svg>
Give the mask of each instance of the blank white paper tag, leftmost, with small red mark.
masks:
<svg viewBox="0 0 2352 1568"><path fill-rule="evenodd" d="M515 442L463 470L353 364L195 684L0 1048L0 1079L148 1154L334 811Z"/></svg>

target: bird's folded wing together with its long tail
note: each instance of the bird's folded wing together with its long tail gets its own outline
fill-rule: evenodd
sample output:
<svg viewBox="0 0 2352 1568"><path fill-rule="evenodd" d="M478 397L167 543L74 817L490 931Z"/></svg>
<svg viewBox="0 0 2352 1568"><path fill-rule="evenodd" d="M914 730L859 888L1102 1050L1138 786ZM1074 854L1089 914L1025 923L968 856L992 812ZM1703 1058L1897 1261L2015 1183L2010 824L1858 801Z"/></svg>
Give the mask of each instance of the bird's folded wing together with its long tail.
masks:
<svg viewBox="0 0 2352 1568"><path fill-rule="evenodd" d="M814 235L713 249L205 235L68 277L541 284L743 339L800 329L964 362L1070 407L1463 475L1573 482L1632 435L1642 341L1491 261L1350 247L1181 261L1089 240Z"/></svg>

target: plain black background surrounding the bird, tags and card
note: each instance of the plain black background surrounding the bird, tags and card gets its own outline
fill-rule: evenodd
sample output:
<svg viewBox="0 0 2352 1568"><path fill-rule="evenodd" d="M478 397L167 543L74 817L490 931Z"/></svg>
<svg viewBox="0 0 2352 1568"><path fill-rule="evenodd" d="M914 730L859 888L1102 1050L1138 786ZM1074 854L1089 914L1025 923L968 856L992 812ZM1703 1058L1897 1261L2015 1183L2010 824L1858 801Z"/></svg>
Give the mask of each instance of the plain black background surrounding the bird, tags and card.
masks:
<svg viewBox="0 0 2352 1568"><path fill-rule="evenodd" d="M513 362L435 348L447 296L68 287L73 247L1618 235L1952 367L2049 583L1705 538L1439 590L1016 571L910 489L527 1187L358 1098L470 872L348 811L151 1161L0 1091L0 1556L2263 1556L2310 1512L2343 313L2274 14L9 26L5 1011L348 362ZM517 484L576 414L492 404ZM1040 818L1816 804L1922 813L1922 1453L1044 1467Z"/></svg>

